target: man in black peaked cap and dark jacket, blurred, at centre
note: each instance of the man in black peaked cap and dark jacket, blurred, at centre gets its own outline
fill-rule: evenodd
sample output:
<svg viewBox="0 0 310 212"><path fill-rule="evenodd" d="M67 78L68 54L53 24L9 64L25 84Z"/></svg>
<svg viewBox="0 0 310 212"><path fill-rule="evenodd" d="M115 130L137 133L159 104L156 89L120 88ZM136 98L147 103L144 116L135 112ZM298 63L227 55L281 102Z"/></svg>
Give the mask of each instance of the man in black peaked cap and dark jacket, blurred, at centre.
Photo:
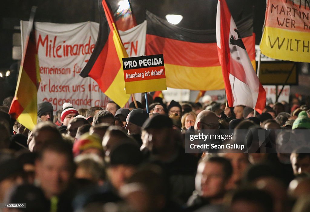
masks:
<svg viewBox="0 0 310 212"><path fill-rule="evenodd" d="M148 119L142 127L142 148L150 152L151 161L163 167L171 182L171 198L183 205L195 189L198 159L185 153L178 142L180 132L173 130L172 126L172 120L165 115Z"/></svg>

